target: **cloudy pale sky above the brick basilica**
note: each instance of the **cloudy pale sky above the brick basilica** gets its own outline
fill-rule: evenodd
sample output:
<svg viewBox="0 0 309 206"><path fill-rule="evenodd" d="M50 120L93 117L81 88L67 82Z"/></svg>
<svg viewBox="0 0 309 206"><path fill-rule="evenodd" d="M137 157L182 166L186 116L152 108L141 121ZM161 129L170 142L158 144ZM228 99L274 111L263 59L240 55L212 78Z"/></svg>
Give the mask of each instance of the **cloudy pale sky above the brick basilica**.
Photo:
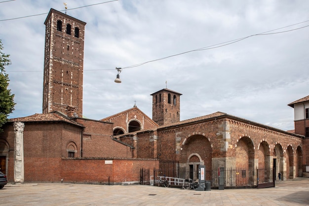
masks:
<svg viewBox="0 0 309 206"><path fill-rule="evenodd" d="M42 113L44 21L50 8L64 10L63 2L0 0L0 39L16 103L9 118ZM152 118L151 94L167 87L183 94L181 120L221 111L294 129L287 104L309 95L309 1L65 2L68 15L87 23L86 118L103 119L135 103ZM116 67L124 68L120 84Z"/></svg>

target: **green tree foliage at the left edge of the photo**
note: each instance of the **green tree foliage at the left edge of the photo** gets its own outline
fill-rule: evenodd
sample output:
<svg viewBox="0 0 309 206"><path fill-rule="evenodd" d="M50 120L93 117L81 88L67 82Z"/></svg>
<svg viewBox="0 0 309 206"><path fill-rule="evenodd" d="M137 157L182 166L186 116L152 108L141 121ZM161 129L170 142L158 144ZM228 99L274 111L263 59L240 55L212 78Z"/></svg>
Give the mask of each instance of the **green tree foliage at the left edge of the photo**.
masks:
<svg viewBox="0 0 309 206"><path fill-rule="evenodd" d="M14 95L11 94L10 89L7 89L9 78L4 68L11 64L11 61L8 59L10 55L4 54L2 50L3 45L0 40L0 128L7 121L7 116L9 113L12 113L15 105Z"/></svg>

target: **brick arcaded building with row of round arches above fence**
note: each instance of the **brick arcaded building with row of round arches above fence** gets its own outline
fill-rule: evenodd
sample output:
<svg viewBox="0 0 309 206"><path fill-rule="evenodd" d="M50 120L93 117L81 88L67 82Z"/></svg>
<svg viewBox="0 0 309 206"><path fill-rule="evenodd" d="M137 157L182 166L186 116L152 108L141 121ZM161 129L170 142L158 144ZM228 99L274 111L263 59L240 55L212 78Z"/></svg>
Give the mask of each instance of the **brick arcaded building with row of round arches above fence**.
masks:
<svg viewBox="0 0 309 206"><path fill-rule="evenodd" d="M198 165L205 165L206 171L219 167L274 168L284 178L302 175L301 137L240 121L217 118L193 125L162 126L155 132L157 140L152 141L157 148L154 155L160 154L162 162L174 159L180 171L196 171Z"/></svg>

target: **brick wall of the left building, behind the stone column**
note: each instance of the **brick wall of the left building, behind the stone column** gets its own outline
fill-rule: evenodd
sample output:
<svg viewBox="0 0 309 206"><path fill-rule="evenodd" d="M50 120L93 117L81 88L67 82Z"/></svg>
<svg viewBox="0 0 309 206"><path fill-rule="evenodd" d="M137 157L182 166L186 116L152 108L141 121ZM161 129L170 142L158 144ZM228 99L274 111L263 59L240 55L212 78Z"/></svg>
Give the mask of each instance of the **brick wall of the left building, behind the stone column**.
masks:
<svg viewBox="0 0 309 206"><path fill-rule="evenodd" d="M0 138L9 144L7 177L14 180L14 128L6 124ZM63 122L31 124L24 128L25 181L56 181L61 157L68 157L67 145L75 142L80 150L81 128ZM52 172L52 175L49 173Z"/></svg>

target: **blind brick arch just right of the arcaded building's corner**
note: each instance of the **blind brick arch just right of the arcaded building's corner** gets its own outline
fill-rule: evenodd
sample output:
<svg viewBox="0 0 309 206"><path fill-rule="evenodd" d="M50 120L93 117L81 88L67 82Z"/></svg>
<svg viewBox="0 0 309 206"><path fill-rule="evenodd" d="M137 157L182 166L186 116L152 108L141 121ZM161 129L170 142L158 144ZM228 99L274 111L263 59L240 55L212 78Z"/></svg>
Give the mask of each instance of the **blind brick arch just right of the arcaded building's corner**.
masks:
<svg viewBox="0 0 309 206"><path fill-rule="evenodd" d="M254 146L249 137L241 137L237 142L236 168L254 168Z"/></svg>

